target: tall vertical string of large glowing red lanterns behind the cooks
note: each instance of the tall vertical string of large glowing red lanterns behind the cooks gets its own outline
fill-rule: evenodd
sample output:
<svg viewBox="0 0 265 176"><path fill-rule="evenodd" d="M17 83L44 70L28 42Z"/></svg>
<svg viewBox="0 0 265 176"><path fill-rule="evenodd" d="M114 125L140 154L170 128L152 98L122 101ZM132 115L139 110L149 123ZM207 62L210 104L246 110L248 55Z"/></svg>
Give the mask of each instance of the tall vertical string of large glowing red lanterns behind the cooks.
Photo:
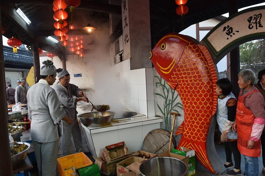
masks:
<svg viewBox="0 0 265 176"><path fill-rule="evenodd" d="M69 45L68 39L68 22L66 21L68 14L64 9L67 8L67 4L65 3L65 0L54 0L53 1L53 11L54 15L53 18L56 21L54 23L54 28L56 29L54 31L54 35L57 36L58 40L61 41L62 46L64 48L67 48Z"/></svg>

